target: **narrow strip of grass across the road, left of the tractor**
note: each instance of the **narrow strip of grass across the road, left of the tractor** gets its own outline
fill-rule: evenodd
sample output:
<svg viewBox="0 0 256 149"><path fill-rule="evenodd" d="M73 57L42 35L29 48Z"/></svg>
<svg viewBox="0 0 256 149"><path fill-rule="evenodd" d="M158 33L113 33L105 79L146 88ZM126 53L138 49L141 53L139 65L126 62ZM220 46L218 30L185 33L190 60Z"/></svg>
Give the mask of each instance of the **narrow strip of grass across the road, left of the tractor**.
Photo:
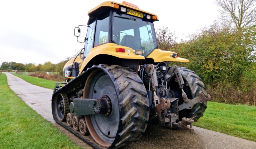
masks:
<svg viewBox="0 0 256 149"><path fill-rule="evenodd" d="M52 90L55 87L55 82L57 82L57 81L41 79L41 78L33 77L33 76L25 76L25 75L20 75L20 74L15 74L15 73L12 73L12 74L20 77L21 79L23 79L31 84L41 86L41 87L44 87L47 89L52 89Z"/></svg>

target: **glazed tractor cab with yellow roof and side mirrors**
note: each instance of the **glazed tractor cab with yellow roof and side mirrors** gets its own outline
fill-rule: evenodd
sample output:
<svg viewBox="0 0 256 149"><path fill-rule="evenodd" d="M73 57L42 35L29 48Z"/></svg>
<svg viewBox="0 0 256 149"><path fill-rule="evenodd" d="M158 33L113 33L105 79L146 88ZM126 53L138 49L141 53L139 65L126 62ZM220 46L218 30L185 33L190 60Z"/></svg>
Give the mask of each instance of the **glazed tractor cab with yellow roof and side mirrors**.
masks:
<svg viewBox="0 0 256 149"><path fill-rule="evenodd" d="M88 15L86 37L77 38L79 42L85 42L84 57L92 48L107 43L129 47L132 52L138 50L138 54L144 57L158 47L153 24L158 17L134 4L104 2L90 10ZM76 27L75 34L78 31L81 32L80 26Z"/></svg>

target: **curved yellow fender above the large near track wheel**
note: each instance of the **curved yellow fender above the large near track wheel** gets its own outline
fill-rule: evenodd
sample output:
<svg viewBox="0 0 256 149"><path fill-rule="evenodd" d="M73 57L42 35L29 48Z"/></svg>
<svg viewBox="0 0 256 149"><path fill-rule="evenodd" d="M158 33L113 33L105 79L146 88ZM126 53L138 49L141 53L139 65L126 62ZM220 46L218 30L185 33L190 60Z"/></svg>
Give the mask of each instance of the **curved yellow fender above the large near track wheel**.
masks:
<svg viewBox="0 0 256 149"><path fill-rule="evenodd" d="M115 48L124 48L125 52L116 52ZM144 56L134 54L132 48L117 45L115 43L106 43L90 50L90 53L83 61L79 74L82 73L84 67L86 67L91 59L100 54L111 55L121 59L145 59Z"/></svg>

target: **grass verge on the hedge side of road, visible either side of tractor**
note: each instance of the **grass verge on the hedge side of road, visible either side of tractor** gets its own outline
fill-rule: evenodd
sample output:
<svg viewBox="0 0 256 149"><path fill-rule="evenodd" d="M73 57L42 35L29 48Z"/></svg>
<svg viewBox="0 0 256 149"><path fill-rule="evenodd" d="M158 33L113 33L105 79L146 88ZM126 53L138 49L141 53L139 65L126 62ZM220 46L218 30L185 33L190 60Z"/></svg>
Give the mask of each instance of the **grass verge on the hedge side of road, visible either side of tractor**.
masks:
<svg viewBox="0 0 256 149"><path fill-rule="evenodd" d="M21 78L38 86L52 82L48 86L54 87L55 84L54 81L32 76L21 76ZM38 81L40 84L37 83ZM194 123L195 126L256 141L256 107L217 102L208 102L207 106L204 116Z"/></svg>

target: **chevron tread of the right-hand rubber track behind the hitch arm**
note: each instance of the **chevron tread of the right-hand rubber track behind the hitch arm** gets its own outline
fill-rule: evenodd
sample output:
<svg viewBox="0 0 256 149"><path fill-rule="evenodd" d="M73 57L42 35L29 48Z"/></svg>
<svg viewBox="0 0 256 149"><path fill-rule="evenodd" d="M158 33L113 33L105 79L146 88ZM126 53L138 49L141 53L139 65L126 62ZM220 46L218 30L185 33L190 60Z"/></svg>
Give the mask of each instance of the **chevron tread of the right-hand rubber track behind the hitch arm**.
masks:
<svg viewBox="0 0 256 149"><path fill-rule="evenodd" d="M189 83L192 98L198 96L199 93L204 93L207 95L206 86L202 82L202 79L195 74L194 71L189 70L186 67L178 67L183 78ZM193 118L195 122L203 116L205 109L207 108L207 102L200 102L195 104L189 114L189 118Z"/></svg>

